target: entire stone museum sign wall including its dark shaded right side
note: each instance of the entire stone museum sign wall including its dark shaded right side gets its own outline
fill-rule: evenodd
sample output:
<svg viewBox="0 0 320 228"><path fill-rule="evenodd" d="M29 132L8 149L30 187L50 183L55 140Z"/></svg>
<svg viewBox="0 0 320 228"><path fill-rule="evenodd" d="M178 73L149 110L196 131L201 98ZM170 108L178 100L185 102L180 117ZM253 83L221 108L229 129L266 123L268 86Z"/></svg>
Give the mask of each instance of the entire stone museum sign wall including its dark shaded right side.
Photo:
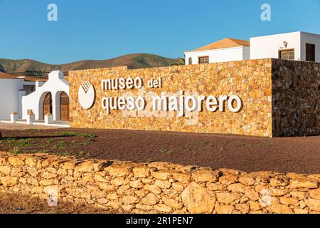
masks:
<svg viewBox="0 0 320 228"><path fill-rule="evenodd" d="M264 137L319 135L319 68L320 63L262 59L137 70L116 67L71 71L70 125ZM139 89L130 84L135 78L143 83ZM118 84L112 89L114 80ZM121 88L121 83L127 80L130 88L128 84L127 88L126 85ZM90 89L90 85L91 93L95 91L95 101L90 106L93 98L82 100L82 103L89 100L85 108L90 108L85 109L80 105L78 91L81 88L81 98L85 99L83 91L85 86ZM203 96L203 100L194 106L195 110L185 110L182 115L154 109L155 97L171 95L183 98L193 95L197 102ZM124 102L123 96L143 98L145 107L140 110L115 107ZM225 100L220 100L223 97ZM112 98L119 99L113 105L115 108L110 109ZM193 101L185 103L190 106ZM235 110L239 104L241 107Z"/></svg>

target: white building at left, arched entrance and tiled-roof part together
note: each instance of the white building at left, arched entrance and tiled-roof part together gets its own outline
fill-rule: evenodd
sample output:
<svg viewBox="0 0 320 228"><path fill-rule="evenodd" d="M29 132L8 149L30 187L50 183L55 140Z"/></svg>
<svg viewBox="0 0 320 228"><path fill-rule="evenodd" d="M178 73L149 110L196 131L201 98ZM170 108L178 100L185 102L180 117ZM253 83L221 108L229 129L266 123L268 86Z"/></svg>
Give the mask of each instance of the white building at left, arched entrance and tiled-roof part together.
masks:
<svg viewBox="0 0 320 228"><path fill-rule="evenodd" d="M27 119L34 113L36 120L52 114L53 120L69 120L69 82L63 73L53 71L48 80L0 73L0 120L9 120L11 113Z"/></svg>

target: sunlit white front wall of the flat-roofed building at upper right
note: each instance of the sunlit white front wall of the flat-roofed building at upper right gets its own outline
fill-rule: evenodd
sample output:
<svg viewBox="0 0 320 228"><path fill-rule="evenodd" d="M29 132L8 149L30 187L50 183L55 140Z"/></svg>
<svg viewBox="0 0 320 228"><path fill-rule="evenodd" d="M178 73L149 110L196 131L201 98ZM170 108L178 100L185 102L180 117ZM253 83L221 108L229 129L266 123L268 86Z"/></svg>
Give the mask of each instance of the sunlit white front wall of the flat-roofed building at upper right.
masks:
<svg viewBox="0 0 320 228"><path fill-rule="evenodd" d="M250 58L279 58L279 50L293 49L294 59L302 60L300 32L250 38ZM284 47L287 41L287 48Z"/></svg>

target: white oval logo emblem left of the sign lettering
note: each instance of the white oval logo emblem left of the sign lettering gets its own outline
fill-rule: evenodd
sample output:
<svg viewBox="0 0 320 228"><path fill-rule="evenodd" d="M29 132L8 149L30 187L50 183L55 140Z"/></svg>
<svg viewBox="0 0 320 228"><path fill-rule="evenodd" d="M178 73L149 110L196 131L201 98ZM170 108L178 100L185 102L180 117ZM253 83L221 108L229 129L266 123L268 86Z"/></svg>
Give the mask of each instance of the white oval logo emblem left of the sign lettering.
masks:
<svg viewBox="0 0 320 228"><path fill-rule="evenodd" d="M89 81L81 83L78 92L79 103L84 109L92 108L95 103L95 88Z"/></svg>

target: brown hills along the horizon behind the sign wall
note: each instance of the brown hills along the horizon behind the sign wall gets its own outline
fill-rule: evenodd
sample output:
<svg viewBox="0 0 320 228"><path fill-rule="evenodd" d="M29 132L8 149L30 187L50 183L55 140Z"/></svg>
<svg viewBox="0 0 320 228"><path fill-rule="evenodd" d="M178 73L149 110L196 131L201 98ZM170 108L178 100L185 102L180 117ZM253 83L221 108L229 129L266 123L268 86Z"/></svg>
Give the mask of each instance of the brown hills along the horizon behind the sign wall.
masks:
<svg viewBox="0 0 320 228"><path fill-rule="evenodd" d="M12 75L23 75L26 71L77 71L92 68L108 68L114 66L128 66L131 69L152 68L183 64L180 58L164 58L146 53L129 54L107 60L85 60L60 65L41 63L31 59L12 60L0 58L0 71Z"/></svg>

